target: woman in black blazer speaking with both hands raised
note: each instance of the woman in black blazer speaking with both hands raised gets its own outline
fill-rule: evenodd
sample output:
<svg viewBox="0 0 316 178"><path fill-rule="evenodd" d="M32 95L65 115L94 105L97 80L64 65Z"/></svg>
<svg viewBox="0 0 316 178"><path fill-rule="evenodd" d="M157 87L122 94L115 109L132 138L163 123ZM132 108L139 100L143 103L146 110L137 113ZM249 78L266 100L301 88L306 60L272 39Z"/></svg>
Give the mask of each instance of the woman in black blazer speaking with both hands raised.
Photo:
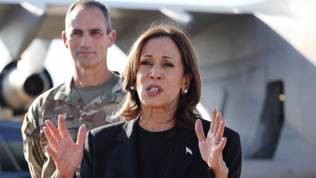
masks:
<svg viewBox="0 0 316 178"><path fill-rule="evenodd" d="M72 177L82 158L83 178L240 177L238 133L225 127L216 107L211 124L196 110L199 68L180 29L161 24L144 32L129 53L124 78L127 96L114 115L122 122L88 131L86 141L82 125L73 143L62 116L59 132L46 121L51 147L45 149L55 161L56 177Z"/></svg>

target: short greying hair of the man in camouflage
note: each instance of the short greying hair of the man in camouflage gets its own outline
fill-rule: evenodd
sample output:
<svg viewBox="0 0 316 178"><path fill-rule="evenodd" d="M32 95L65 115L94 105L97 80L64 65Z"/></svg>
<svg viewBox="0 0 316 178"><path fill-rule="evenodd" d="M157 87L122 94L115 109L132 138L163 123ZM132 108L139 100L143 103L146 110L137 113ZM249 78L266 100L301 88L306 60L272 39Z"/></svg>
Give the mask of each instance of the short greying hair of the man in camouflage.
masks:
<svg viewBox="0 0 316 178"><path fill-rule="evenodd" d="M67 16L70 14L71 11L75 10L75 9L80 9L80 8L99 8L104 17L105 17L105 24L106 24L106 33L109 34L112 30L111 27L111 19L110 19L110 14L108 12L108 9L106 8L106 6L98 1L95 0L79 0L77 2L74 2L70 5L67 14L66 14L66 18ZM97 17L96 17L97 18Z"/></svg>

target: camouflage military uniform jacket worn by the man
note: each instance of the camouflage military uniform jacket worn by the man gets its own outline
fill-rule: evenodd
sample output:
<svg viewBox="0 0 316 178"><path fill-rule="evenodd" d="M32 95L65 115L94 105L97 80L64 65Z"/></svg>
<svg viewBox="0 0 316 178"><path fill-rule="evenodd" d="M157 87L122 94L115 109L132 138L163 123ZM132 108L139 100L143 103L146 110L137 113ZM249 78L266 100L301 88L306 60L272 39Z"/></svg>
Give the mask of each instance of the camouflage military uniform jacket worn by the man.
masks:
<svg viewBox="0 0 316 178"><path fill-rule="evenodd" d="M85 124L88 129L92 129L114 122L110 115L122 100L121 84L119 80L114 87L107 87L86 106L73 89L71 80L36 98L22 126L24 156L32 178L50 178L56 169L53 159L45 151L48 145L43 131L45 120L51 120L57 126L58 114L62 114L70 137L76 142L80 125Z"/></svg>

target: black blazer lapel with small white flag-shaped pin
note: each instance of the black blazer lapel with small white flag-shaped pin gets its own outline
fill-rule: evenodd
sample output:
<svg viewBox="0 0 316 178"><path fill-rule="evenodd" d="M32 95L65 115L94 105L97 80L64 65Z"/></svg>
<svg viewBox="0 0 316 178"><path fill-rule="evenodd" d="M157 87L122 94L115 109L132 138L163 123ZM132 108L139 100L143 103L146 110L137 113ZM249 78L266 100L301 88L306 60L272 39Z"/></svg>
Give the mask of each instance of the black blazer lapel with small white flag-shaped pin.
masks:
<svg viewBox="0 0 316 178"><path fill-rule="evenodd" d="M181 178L193 159L199 155L195 132L179 130L174 153L167 168L165 178ZM195 142L194 142L195 141Z"/></svg>

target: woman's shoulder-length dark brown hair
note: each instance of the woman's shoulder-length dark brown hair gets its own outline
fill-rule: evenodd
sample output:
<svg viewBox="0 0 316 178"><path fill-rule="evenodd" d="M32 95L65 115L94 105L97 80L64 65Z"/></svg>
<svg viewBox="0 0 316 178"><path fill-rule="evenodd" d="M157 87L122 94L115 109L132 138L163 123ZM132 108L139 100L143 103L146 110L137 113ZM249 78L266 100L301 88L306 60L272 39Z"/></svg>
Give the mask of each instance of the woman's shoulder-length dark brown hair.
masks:
<svg viewBox="0 0 316 178"><path fill-rule="evenodd" d="M181 95L175 112L176 124L182 128L194 129L196 119L202 118L196 105L201 96L201 78L195 52L189 38L184 32L170 23L153 24L135 41L129 51L128 63L124 72L123 89L127 95L121 108L113 115L114 118L131 120L140 116L140 99L137 91L131 89L136 83L136 73L140 66L141 51L149 39L169 37L174 41L181 53L184 74L191 73L192 80L188 93Z"/></svg>

